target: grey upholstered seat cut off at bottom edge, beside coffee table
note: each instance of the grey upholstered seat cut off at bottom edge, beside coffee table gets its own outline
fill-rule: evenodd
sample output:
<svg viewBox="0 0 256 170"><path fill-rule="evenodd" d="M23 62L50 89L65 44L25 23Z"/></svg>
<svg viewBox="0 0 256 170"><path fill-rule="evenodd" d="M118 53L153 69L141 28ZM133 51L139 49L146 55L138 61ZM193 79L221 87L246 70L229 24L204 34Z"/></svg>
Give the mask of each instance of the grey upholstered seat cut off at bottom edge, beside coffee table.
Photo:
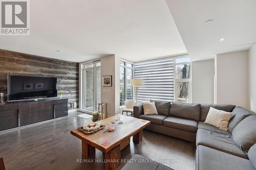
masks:
<svg viewBox="0 0 256 170"><path fill-rule="evenodd" d="M170 167L167 167L161 163L153 161L152 159L148 159L141 155L134 155L128 163L126 163L121 170L131 170L131 169L139 169L139 170L173 170Z"/></svg>

